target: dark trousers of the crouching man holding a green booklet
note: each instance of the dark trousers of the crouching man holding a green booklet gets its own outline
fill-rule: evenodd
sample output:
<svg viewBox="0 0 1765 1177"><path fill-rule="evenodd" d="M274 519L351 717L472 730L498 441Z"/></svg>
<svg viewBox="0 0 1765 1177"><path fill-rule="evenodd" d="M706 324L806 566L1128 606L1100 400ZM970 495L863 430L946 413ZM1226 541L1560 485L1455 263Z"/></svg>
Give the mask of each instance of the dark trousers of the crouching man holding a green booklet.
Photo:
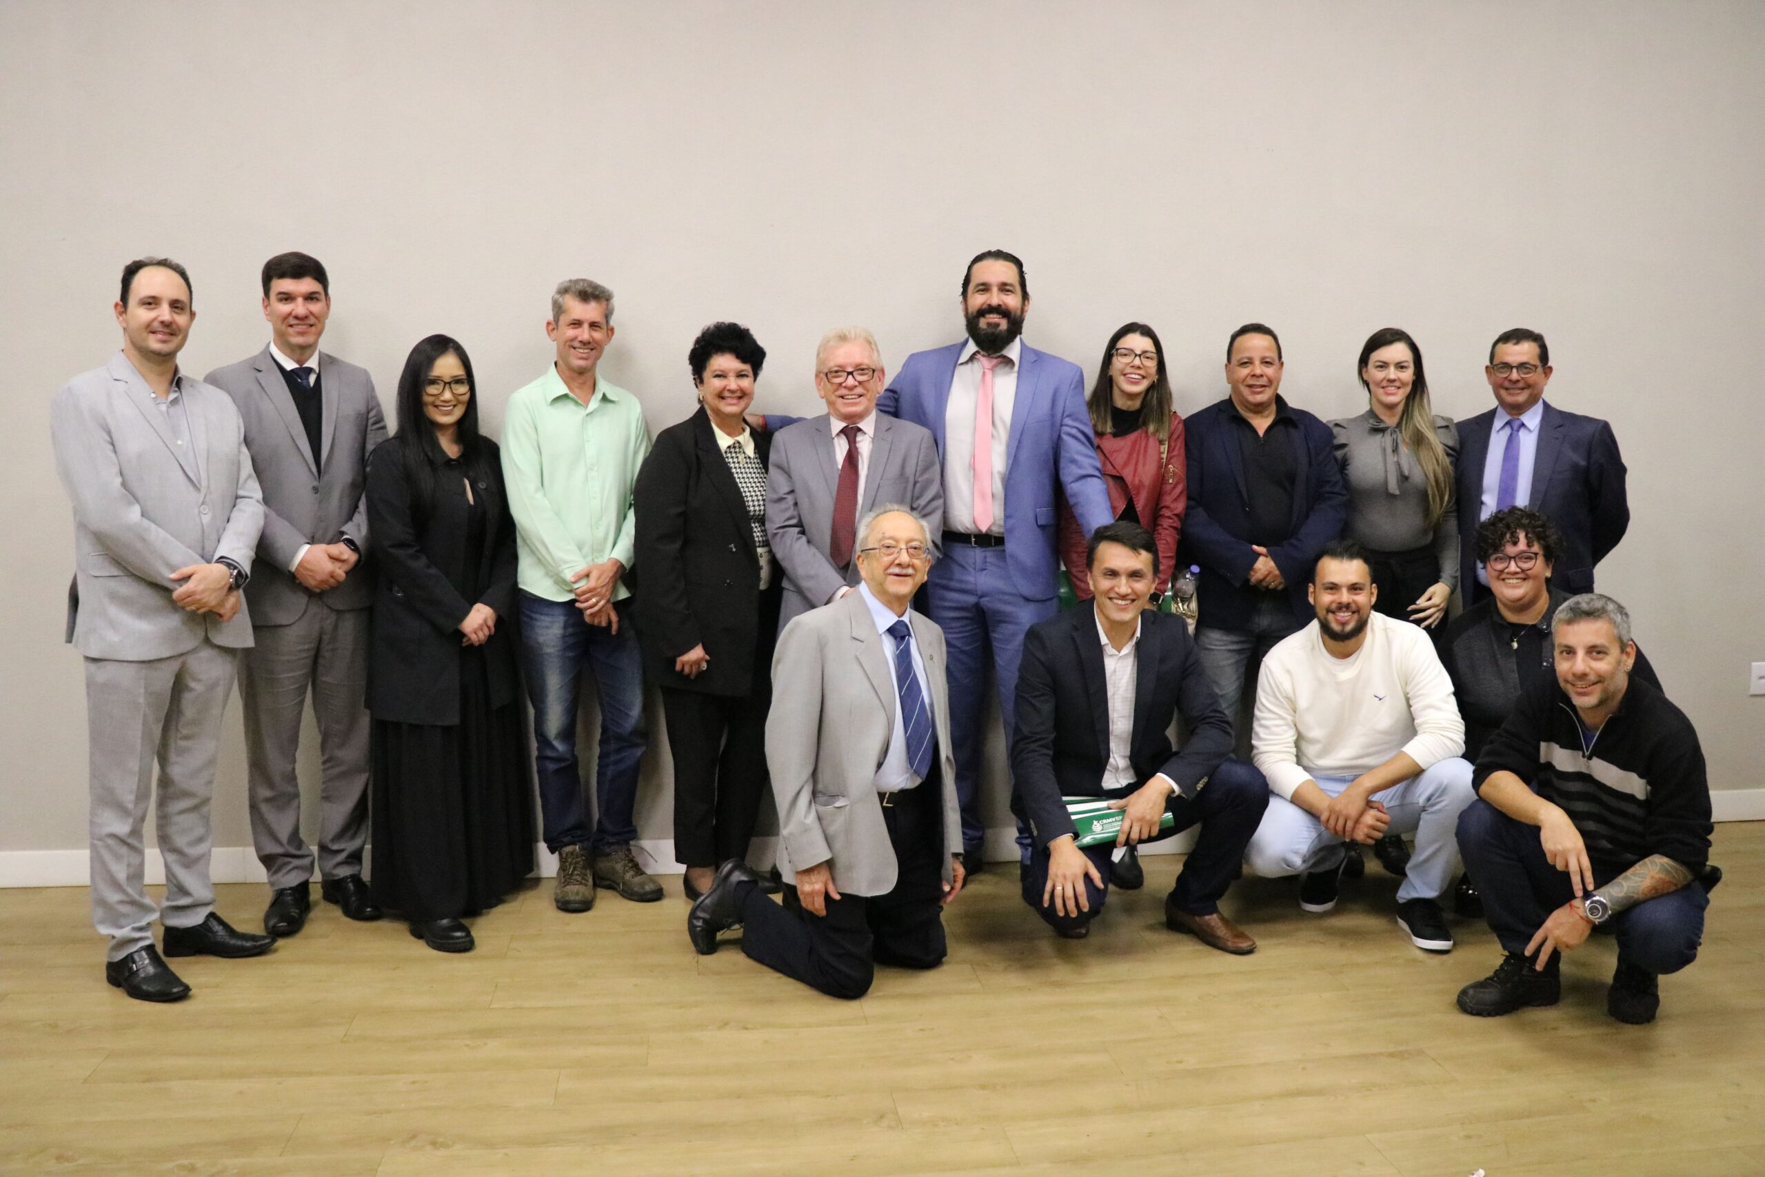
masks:
<svg viewBox="0 0 1765 1177"><path fill-rule="evenodd" d="M1250 845L1251 835L1262 824L1262 812L1269 808L1269 780L1257 766L1228 757L1213 771L1200 792L1193 798L1172 794L1165 808L1170 810L1175 824L1147 842L1174 838L1190 826L1202 828L1165 903L1190 916L1211 916L1220 911L1220 896L1237 877L1239 863L1244 861L1244 847ZM1047 845L1038 845L1029 856L1029 863L1018 868L1024 902L1034 907L1050 928L1082 928L1103 914L1115 866L1112 859L1115 843L1089 845L1080 854L1098 868L1103 886L1091 882L1087 875L1084 881L1085 902L1091 911L1071 916L1063 916L1054 911L1054 903L1041 902L1041 893L1048 886Z"/></svg>

